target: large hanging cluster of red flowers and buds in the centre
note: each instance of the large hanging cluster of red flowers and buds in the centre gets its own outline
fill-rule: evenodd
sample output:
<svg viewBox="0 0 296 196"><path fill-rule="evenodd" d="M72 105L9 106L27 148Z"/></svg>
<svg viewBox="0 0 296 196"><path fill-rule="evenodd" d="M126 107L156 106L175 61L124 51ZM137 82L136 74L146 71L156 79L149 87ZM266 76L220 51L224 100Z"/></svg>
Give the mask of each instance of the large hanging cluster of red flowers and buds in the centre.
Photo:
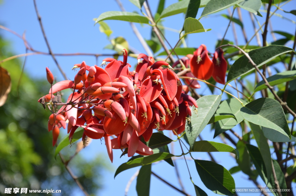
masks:
<svg viewBox="0 0 296 196"><path fill-rule="evenodd" d="M73 88L67 102L49 116L48 130L53 134L53 145L57 142L59 128L66 128L71 141L78 127L84 129L83 138L104 137L109 158L112 149L128 148L128 157L135 153L153 154L152 149L141 142L148 141L153 129L175 130L180 134L185 129L186 117L191 116L189 106L197 107L195 100L184 93L178 76L165 61L140 54L136 71L129 71L127 51L123 50L123 62L113 58L105 69L88 66L83 61L74 68L80 68L74 81L64 80L52 86L49 94L39 102L61 105L58 91ZM86 73L88 71L88 74ZM46 68L47 78L52 84L52 73ZM54 110L53 110L54 111ZM93 114L94 112L94 114ZM115 135L115 139L110 136Z"/></svg>

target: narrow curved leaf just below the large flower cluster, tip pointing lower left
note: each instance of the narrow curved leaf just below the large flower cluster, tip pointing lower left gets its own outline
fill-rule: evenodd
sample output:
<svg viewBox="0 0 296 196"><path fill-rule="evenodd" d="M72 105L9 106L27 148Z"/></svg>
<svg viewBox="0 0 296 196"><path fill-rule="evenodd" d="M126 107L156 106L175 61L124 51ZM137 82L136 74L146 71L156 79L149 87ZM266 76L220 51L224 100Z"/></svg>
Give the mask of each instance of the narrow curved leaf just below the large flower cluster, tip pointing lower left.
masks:
<svg viewBox="0 0 296 196"><path fill-rule="evenodd" d="M143 166L143 165L148 165L151 163L155 163L157 161L161 161L163 159L168 159L170 157L173 157L175 155L170 154L170 153L166 153L166 152L161 152L161 153L156 153L156 154L152 154L149 155L147 157L141 157L141 158L137 158L137 159L133 159L131 161L128 161L126 163L121 164L114 175L114 178L120 173L123 172L127 169L131 169L133 167L138 167L138 166Z"/></svg>

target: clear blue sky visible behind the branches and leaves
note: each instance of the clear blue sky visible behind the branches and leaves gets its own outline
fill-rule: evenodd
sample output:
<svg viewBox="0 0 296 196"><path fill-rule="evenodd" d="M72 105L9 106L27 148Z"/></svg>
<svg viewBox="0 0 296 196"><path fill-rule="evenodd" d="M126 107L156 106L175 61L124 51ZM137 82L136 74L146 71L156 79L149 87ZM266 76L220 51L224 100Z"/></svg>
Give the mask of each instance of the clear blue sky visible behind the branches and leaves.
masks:
<svg viewBox="0 0 296 196"><path fill-rule="evenodd" d="M157 9L156 0L150 0L149 4L152 9L152 12L155 13ZM177 0L166 1L165 7L169 4L175 3ZM127 11L138 11L139 9L134 6L130 1L123 0L123 6ZM54 53L75 53L75 52L84 52L84 53L104 53L104 54L113 54L114 52L111 50L104 50L103 48L110 44L110 41L107 39L106 35L99 31L99 25L94 26L93 18L98 17L105 11L120 11L118 5L115 1L102 1L102 0L89 0L89 1L41 1L37 0L37 6L39 13L42 17L42 22L44 24L44 29L49 40L49 43L52 47L52 51ZM291 9L295 9L296 1L291 1L287 5L283 6L282 9L286 11L290 11ZM202 8L203 9L203 8ZM198 11L197 18L200 17L202 13L202 9ZM264 9L263 6L261 9ZM232 10L232 8L231 8ZM274 10L274 7L272 8ZM220 14L225 13L228 14L227 10L222 12L211 14L207 17L204 17L200 20L205 28L211 28L210 32L206 33L198 33L198 34L189 34L188 36L188 47L198 47L200 44L205 44L210 52L214 52L215 43L218 39L223 37L223 34L228 25L228 19L221 17ZM296 16L292 14L284 13L283 11L277 11L278 14L281 14L284 17L288 17L289 19L296 21ZM263 18L257 17L260 24L265 21L266 13L261 12ZM235 11L234 17L238 18L237 11ZM250 15L247 11L242 10L242 17L244 22L244 27L247 32L247 37L250 38L254 29L252 27L252 23L250 20ZM163 25L165 27L180 29L182 27L184 21L184 14L178 14L175 16L165 18ZM133 34L132 29L128 22L123 21L114 21L109 20L105 21L110 26L113 31L111 38L122 36L124 37L129 45L141 53L145 53L145 50L141 46L139 40ZM277 16L273 16L271 18L271 23L274 31L285 31L290 34L295 34L295 23L282 19ZM0 24L12 29L13 31L22 34L25 32L26 39L33 46L35 50L40 50L47 52L47 47L44 42L44 38L41 33L41 29L37 20L37 16L35 13L33 1L15 1L15 0L4 0L0 5ZM142 36L145 39L150 39L151 27L149 25L140 25L136 24ZM244 45L244 38L242 35L242 30L240 26L235 25L238 42L239 45ZM257 25L258 28L258 25ZM269 29L270 32L270 29ZM12 50L15 54L25 53L25 47L21 39L16 37L15 35L6 32L0 29L1 35L4 36L5 39L9 40L12 43ZM165 31L165 36L171 45L175 45L178 41L178 33L172 31ZM278 39L281 39L282 36L276 35ZM261 38L261 35L260 35ZM231 41L233 39L233 31L231 27L229 27L229 31L226 34L226 38ZM273 41L271 34L268 33L267 40L269 42ZM261 38L262 42L262 38ZM254 38L250 45L257 45L256 39ZM292 47L292 43L288 43L289 47ZM101 63L104 57L99 57L98 62ZM22 58L23 60L23 58ZM57 56L57 61L61 65L62 69L65 71L68 78L73 79L75 72L71 71L71 68L74 64L81 63L82 61L86 61L87 65L96 64L96 59L93 56L70 56L70 57L61 57ZM128 62L133 66L136 65L136 59L129 57ZM57 80L62 80L62 75L57 70L57 67L52 60L52 57L49 55L35 55L30 56L27 59L25 71L30 73L32 78L45 78L45 67L49 67L57 77ZM282 65L278 65L280 70L283 70L284 67ZM202 88L197 89L198 93L201 94L209 94L209 90L206 89L205 84L201 84ZM219 85L218 85L219 86ZM220 86L221 87L221 86ZM228 88L227 88L228 89ZM230 92L235 93L231 89ZM215 94L220 94L221 92L215 91ZM226 99L226 96L223 96L222 100ZM239 128L235 130L241 134ZM65 134L65 133L64 133ZM169 132L165 131L165 134L169 136ZM201 136L205 140L222 142L219 137L213 139L213 131L210 131L210 126L207 126L202 132ZM50 135L49 135L50 136ZM233 137L234 138L234 137ZM234 138L236 139L236 138ZM104 142L103 142L104 143ZM230 144L230 142L229 142ZM231 145L231 144L230 144ZM53 149L54 150L54 149ZM109 163L109 159L107 157L107 152L105 150L105 145L101 145L100 141L93 141L89 147L81 151L83 156L91 157L93 154L103 154L102 156L106 159L107 163ZM181 154L180 147L178 143L175 143L175 154ZM119 159L121 154L120 150L114 150L114 161L111 167L113 171L104 172L104 178L99 179L104 185L104 189L100 190L97 195L123 195L125 191L126 184L131 176L137 171L139 168L133 168L128 171L124 171L120 173L114 179L114 173L116 168L126 162L128 157L122 157ZM229 153L213 153L215 159L219 164L223 165L226 169L230 169L233 166L236 166L237 163L234 158L229 156ZM194 158L196 159L204 159L210 160L210 157L206 153L194 153ZM225 158L227 156L227 158ZM185 186L186 191L190 195L194 195L194 187L189 179L189 174L186 168L186 164L184 160L177 160L178 168L180 169L181 179ZM213 193L208 190L200 180L200 177L197 174L195 169L195 165L193 161L188 161L191 175L193 177L193 181L196 185L205 190L208 195L213 195ZM173 167L168 165L166 162L160 162L158 164L152 165L152 171L166 179L168 182L172 183L176 187L178 185L178 181L176 178L175 170ZM236 183L236 187L255 187L252 182L247 180L247 175L242 172L238 172L233 175ZM263 186L262 180L260 177L258 181ZM136 195L136 180L131 184L128 195ZM45 187L50 189L52 187ZM163 182L156 179L154 176L151 177L151 188L150 195L181 195L178 192L174 191ZM77 192L77 195L81 195L81 192ZM255 196L256 194L254 194ZM257 194L259 195L259 194Z"/></svg>

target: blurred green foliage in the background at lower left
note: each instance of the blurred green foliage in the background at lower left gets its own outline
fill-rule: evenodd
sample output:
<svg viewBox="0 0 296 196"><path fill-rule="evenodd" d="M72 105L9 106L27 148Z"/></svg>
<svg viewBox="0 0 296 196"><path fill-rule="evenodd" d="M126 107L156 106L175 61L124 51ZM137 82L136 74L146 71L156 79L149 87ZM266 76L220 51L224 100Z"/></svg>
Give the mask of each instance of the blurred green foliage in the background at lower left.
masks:
<svg viewBox="0 0 296 196"><path fill-rule="evenodd" d="M9 43L0 36L0 61L14 55L8 48ZM5 188L15 187L62 190L62 195L79 193L59 157L54 159L52 133L47 131L50 112L37 102L47 94L49 84L23 73L17 87L22 72L20 60L10 60L1 66L9 72L12 88L6 103L0 107L0 193L4 193ZM63 151L66 159L74 154L75 147L73 145L70 152ZM78 154L69 163L90 194L102 187L102 180L98 179L102 179L101 173L107 164L100 157L88 161Z"/></svg>

